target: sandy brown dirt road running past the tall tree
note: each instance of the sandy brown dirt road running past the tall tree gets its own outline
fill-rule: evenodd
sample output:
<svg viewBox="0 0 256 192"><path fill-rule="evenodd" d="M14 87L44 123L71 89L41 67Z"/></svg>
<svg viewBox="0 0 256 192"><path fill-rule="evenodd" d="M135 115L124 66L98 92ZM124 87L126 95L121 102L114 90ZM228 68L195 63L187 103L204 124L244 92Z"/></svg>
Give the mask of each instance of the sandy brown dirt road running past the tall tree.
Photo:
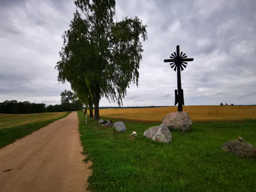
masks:
<svg viewBox="0 0 256 192"><path fill-rule="evenodd" d="M0 150L0 191L86 191L91 163L81 152L72 112Z"/></svg>

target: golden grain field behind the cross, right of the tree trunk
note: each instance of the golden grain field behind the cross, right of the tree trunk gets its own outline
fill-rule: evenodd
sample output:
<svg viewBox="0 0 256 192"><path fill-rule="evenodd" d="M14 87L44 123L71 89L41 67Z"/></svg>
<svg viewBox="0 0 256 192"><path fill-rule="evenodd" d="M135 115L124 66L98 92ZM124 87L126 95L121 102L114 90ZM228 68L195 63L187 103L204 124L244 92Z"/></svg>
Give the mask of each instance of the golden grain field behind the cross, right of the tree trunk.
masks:
<svg viewBox="0 0 256 192"><path fill-rule="evenodd" d="M145 122L161 122L170 112L176 112L177 106L137 109L101 109L100 116L113 119ZM222 121L256 119L256 106L203 105L183 106L193 121ZM88 111L89 113L89 111Z"/></svg>

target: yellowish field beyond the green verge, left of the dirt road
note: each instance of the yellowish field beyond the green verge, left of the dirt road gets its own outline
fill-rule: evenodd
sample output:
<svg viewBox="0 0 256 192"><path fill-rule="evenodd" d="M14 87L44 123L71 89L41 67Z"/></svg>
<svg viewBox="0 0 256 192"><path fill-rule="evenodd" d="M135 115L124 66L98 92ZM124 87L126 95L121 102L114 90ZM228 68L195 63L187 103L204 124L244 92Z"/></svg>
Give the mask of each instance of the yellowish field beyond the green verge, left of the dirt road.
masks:
<svg viewBox="0 0 256 192"><path fill-rule="evenodd" d="M0 114L0 129L62 117L66 112L33 114Z"/></svg>

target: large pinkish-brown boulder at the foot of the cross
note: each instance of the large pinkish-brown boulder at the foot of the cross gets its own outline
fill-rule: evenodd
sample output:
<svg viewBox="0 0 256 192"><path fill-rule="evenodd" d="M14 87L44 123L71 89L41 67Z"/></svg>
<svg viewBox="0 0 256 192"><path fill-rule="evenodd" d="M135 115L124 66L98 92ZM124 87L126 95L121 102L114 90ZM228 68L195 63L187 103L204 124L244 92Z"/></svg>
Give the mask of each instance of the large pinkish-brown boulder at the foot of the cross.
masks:
<svg viewBox="0 0 256 192"><path fill-rule="evenodd" d="M192 120L187 112L172 112L163 117L162 124L167 125L169 129L181 130L184 134L190 130Z"/></svg>

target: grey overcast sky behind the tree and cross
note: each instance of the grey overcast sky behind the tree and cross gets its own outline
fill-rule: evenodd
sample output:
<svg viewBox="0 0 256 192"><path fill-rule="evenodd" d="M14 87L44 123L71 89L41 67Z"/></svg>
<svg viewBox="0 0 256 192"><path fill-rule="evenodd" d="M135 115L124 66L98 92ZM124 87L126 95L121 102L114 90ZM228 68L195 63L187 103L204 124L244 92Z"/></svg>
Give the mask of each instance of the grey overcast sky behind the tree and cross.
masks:
<svg viewBox="0 0 256 192"><path fill-rule="evenodd" d="M123 106L174 105L177 74L163 60L180 50L194 61L181 73L185 105L256 104L255 0L119 0L116 17L147 25L139 87ZM54 69L73 0L0 1L0 102L60 103L70 84ZM100 106L117 106L102 98Z"/></svg>

